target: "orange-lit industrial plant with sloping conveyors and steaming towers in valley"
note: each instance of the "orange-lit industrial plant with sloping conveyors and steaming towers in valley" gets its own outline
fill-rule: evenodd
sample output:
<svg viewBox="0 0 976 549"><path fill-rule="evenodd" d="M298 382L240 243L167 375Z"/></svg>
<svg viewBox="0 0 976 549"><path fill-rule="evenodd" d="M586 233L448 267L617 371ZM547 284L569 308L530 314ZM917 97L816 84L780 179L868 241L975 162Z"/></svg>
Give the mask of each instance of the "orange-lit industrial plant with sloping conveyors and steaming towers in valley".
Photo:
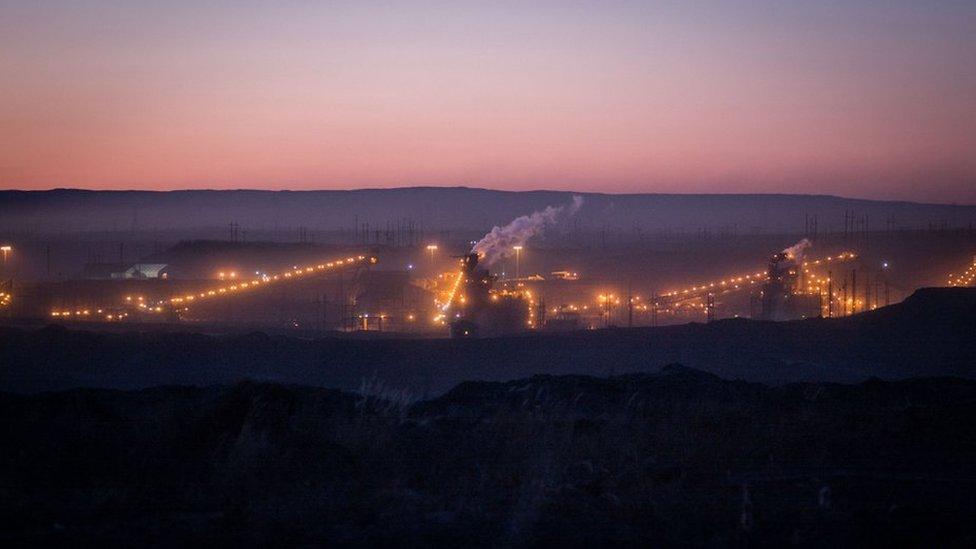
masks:
<svg viewBox="0 0 976 549"><path fill-rule="evenodd" d="M254 254L252 248L238 246L236 254L216 253L219 249L213 243L179 244L174 253L163 254L167 262L141 261L105 277L17 284L5 280L0 307L8 317L59 322L489 337L734 316L775 321L838 316L875 308L887 303L889 295L886 287L884 301L872 299L880 277L875 286L862 288L863 297L858 294L858 256L850 251L810 260L784 250L771 257L765 271L658 293L577 270L492 273L476 252L455 256L456 270L437 272L433 259L439 247L434 244L418 247L420 257L396 270L384 270L375 254L281 265L295 254L269 260L273 254ZM516 259L522 249L519 245L514 250ZM418 269L423 255L430 260L428 268ZM833 266L839 283L826 270ZM92 269L85 272L90 275ZM867 276L862 267L862 279Z"/></svg>

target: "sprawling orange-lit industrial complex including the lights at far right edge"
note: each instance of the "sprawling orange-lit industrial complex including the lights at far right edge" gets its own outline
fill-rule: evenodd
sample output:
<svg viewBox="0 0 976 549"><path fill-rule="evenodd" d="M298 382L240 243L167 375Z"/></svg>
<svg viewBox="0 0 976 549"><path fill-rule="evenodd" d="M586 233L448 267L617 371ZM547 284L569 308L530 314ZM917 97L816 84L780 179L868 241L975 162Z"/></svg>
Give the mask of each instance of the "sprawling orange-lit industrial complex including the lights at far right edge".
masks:
<svg viewBox="0 0 976 549"><path fill-rule="evenodd" d="M675 260L667 268L677 274L645 275L637 265L646 260L632 255L586 268L585 254L533 247L527 238L512 244L503 232L493 234L491 248L484 241L393 247L178 242L131 263L85 263L78 275L56 279L18 277L12 268L17 247L4 245L0 316L471 338L736 317L838 317L890 304L914 289L891 275L887 259L877 253L866 258L837 242L814 247L802 239L766 256L765 268L675 288L668 280L695 280L696 272L715 270ZM737 264L761 265L740 255ZM759 250L752 257L763 255ZM947 284L972 285L974 277L976 258Z"/></svg>

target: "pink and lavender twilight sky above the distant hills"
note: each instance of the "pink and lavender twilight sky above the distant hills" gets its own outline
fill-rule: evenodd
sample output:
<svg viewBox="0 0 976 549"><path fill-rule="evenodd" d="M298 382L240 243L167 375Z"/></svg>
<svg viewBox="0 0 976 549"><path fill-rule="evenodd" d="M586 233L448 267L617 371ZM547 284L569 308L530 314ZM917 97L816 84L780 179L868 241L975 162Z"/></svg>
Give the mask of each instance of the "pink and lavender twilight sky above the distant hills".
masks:
<svg viewBox="0 0 976 549"><path fill-rule="evenodd" d="M0 0L0 188L976 204L976 2Z"/></svg>

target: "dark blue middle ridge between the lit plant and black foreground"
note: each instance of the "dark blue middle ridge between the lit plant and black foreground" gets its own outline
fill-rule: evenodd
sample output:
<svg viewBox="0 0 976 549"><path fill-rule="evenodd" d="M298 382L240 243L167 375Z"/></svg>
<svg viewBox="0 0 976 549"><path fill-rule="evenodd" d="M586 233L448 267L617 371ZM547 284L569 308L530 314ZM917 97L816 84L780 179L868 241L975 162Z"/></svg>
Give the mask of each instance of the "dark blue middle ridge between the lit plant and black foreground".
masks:
<svg viewBox="0 0 976 549"><path fill-rule="evenodd" d="M765 383L976 378L974 296L972 288L925 289L903 303L842 319L723 320L483 340L0 328L0 387L135 389L248 378L426 398L462 381L647 373L672 362Z"/></svg>

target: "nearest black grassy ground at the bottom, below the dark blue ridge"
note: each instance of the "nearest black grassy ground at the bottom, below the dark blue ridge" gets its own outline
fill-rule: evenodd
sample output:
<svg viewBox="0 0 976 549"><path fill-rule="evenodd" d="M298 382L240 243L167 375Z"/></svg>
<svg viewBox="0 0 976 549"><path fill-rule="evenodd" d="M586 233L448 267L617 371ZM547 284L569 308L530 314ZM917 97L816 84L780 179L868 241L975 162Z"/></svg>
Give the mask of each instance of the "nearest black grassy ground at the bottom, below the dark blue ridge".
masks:
<svg viewBox="0 0 976 549"><path fill-rule="evenodd" d="M0 394L0 543L976 543L976 382Z"/></svg>

